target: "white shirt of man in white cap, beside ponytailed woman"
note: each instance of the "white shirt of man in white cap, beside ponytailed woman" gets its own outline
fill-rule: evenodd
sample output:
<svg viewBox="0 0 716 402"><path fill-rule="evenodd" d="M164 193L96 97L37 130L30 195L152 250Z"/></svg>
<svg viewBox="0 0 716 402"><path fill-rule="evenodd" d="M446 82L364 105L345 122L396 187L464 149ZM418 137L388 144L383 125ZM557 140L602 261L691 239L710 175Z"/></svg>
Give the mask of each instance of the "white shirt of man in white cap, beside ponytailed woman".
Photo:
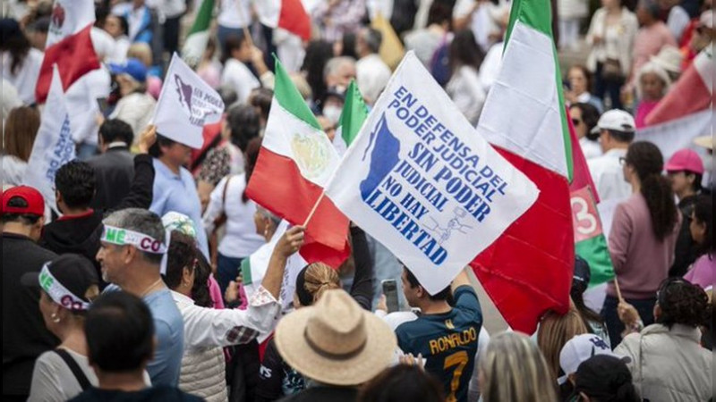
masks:
<svg viewBox="0 0 716 402"><path fill-rule="evenodd" d="M632 194L632 186L624 180L619 163L619 158L625 155L626 149L609 149L604 155L587 161L601 201L622 199Z"/></svg>

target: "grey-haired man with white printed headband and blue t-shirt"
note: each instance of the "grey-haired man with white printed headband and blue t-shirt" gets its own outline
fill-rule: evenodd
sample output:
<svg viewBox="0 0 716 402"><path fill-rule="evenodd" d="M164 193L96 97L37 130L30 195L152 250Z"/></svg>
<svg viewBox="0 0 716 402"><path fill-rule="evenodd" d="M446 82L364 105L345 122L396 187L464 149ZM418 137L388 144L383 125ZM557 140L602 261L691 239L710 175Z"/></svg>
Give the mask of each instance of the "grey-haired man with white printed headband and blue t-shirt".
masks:
<svg viewBox="0 0 716 402"><path fill-rule="evenodd" d="M157 331L157 349L147 365L151 383L176 386L182 367L183 319L159 274L166 253L164 225L156 214L139 208L110 214L104 225L97 254L102 279L147 303Z"/></svg>

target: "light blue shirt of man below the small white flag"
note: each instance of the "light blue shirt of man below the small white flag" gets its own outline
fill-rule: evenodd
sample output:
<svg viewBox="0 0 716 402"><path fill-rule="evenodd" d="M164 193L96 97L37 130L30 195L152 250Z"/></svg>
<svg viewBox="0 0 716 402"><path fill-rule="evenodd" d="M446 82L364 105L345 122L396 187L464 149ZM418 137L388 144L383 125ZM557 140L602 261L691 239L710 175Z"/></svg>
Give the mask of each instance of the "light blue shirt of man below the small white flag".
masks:
<svg viewBox="0 0 716 402"><path fill-rule="evenodd" d="M209 242L201 220L201 203L192 173L180 168L179 174L176 174L156 158L154 172L154 199L149 211L160 217L170 212L189 216L196 228L196 241L201 253L209 258Z"/></svg>

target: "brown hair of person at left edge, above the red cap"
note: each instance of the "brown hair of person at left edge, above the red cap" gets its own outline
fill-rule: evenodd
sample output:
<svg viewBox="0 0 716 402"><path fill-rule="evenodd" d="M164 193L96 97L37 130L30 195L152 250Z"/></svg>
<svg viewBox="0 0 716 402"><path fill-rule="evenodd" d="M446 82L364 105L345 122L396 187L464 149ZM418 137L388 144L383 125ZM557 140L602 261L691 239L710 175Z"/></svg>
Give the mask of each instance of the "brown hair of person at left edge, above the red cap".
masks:
<svg viewBox="0 0 716 402"><path fill-rule="evenodd" d="M39 112L35 108L21 106L11 110L4 125L4 153L27 162L38 135L39 122Z"/></svg>

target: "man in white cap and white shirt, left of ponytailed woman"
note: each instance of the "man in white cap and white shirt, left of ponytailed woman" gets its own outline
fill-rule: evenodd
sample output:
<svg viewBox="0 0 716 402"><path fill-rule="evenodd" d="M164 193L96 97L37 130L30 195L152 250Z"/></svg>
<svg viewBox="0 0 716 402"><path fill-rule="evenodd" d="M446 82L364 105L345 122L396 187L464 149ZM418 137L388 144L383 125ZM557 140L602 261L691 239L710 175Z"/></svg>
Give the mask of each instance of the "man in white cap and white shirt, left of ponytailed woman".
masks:
<svg viewBox="0 0 716 402"><path fill-rule="evenodd" d="M632 194L632 187L624 180L620 161L634 140L635 127L631 114L612 109L602 114L592 129L592 133L599 134L603 155L588 160L587 165L601 201L620 200Z"/></svg>

